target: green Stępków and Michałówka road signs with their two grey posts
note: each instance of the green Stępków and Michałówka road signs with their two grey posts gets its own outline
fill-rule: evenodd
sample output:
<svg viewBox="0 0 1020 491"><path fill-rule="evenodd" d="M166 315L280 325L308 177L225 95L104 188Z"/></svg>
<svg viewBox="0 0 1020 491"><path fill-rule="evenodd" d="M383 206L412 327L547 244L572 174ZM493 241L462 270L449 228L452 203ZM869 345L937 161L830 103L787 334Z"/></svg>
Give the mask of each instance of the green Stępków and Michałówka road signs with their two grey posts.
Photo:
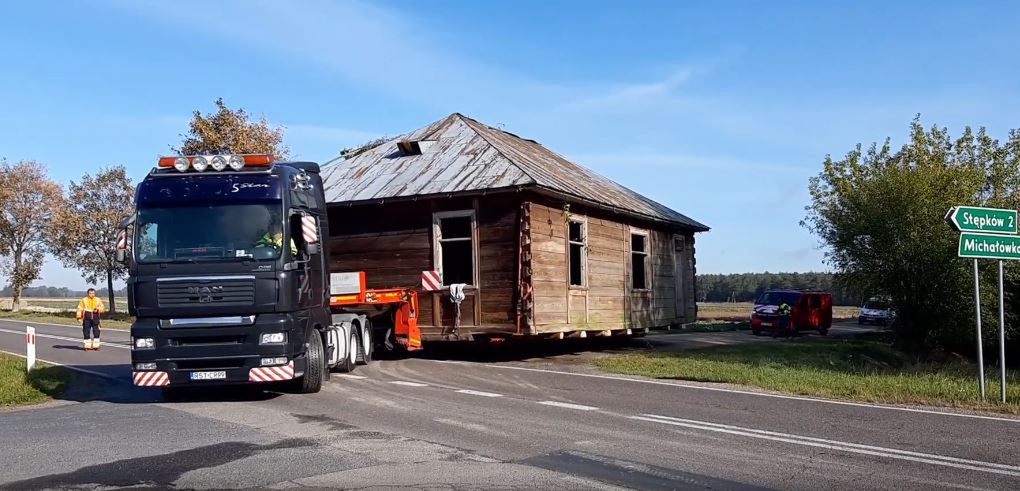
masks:
<svg viewBox="0 0 1020 491"><path fill-rule="evenodd" d="M981 292L978 259L999 259L999 391L1006 402L1006 305L1003 289L1003 261L1020 260L1020 237L1017 236L1017 210L954 206L946 222L960 232L960 257L974 259L974 310L977 312L977 372L981 400L984 394L984 344L981 337Z"/></svg>

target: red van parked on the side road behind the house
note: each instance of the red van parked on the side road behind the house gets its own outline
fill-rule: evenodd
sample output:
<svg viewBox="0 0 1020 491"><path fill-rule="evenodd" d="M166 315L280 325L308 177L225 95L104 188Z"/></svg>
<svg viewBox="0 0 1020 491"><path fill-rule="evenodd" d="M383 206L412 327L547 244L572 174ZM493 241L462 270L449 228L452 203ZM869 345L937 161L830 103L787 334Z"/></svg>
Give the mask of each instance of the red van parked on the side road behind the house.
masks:
<svg viewBox="0 0 1020 491"><path fill-rule="evenodd" d="M755 301L751 312L751 332L758 336L762 331L782 329L779 305L790 306L788 332L818 331L822 336L832 327L832 295L825 292L799 290L769 290Z"/></svg>

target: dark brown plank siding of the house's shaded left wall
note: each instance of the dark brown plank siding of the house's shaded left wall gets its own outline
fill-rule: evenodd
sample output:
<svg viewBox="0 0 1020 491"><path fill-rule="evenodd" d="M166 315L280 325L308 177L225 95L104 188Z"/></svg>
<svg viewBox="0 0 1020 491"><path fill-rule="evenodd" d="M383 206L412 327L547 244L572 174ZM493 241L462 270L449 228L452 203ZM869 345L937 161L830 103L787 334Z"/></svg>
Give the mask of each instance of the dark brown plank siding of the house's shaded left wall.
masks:
<svg viewBox="0 0 1020 491"><path fill-rule="evenodd" d="M329 209L329 269L365 272L367 288L420 287L435 269L434 211L473 209L477 285L461 303L461 331L516 330L517 208L506 197L388 203ZM418 324L426 338L450 333L455 310L447 292L419 296Z"/></svg>

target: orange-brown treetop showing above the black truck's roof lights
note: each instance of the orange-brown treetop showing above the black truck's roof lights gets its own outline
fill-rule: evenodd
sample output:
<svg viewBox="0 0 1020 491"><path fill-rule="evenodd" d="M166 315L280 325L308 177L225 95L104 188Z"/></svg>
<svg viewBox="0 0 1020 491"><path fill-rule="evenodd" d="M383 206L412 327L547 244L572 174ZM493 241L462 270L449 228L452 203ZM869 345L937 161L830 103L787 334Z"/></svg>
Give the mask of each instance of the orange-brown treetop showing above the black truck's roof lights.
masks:
<svg viewBox="0 0 1020 491"><path fill-rule="evenodd" d="M284 145L284 129L270 127L265 116L257 121L244 109L226 107L222 98L216 99L216 112L203 115L195 111L188 135L180 148L170 147L182 155L214 153L268 153L285 159L290 153Z"/></svg>

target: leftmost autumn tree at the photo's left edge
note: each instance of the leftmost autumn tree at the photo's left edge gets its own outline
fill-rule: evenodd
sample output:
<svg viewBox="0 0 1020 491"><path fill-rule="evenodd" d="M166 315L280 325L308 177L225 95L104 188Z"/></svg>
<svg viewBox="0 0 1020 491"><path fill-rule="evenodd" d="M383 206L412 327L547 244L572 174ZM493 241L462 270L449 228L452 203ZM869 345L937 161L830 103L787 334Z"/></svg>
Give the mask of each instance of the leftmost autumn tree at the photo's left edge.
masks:
<svg viewBox="0 0 1020 491"><path fill-rule="evenodd" d="M10 280L17 310L21 292L39 278L46 237L61 199L60 185L35 161L0 162L0 271Z"/></svg>

